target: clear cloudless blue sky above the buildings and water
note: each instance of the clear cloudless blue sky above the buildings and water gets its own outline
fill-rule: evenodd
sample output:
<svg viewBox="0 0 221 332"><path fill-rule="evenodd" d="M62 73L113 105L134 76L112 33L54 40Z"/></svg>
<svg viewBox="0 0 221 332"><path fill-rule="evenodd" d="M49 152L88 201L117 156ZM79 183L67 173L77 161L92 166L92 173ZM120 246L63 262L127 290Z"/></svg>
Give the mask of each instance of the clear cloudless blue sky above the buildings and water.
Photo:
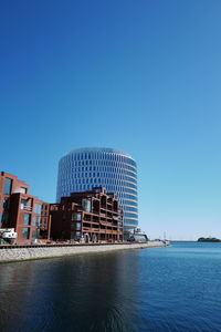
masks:
<svg viewBox="0 0 221 332"><path fill-rule="evenodd" d="M66 152L123 149L151 238L221 238L221 1L0 4L0 168L54 201Z"/></svg>

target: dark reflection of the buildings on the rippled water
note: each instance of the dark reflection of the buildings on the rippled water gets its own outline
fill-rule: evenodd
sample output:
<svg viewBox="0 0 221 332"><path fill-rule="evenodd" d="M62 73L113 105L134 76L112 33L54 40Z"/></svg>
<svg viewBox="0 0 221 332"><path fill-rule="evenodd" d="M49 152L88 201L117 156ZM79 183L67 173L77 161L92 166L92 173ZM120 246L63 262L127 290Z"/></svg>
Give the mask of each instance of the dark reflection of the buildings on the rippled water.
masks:
<svg viewBox="0 0 221 332"><path fill-rule="evenodd" d="M1 264L1 328L128 331L138 251L125 253Z"/></svg>

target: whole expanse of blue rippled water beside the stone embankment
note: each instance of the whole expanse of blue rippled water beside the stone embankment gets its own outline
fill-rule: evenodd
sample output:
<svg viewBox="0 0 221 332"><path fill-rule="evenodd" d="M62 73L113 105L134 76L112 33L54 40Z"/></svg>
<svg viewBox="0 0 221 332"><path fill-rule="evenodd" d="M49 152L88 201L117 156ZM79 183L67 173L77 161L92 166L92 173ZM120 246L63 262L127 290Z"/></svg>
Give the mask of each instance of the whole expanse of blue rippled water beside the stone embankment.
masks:
<svg viewBox="0 0 221 332"><path fill-rule="evenodd" d="M221 332L221 243L0 264L0 331Z"/></svg>

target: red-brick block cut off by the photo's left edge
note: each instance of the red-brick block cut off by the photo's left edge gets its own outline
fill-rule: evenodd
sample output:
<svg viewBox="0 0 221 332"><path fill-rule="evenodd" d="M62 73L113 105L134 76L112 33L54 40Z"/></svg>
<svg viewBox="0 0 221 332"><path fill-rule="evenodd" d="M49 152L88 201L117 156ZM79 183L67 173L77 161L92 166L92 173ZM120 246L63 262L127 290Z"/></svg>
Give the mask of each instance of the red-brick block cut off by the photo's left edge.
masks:
<svg viewBox="0 0 221 332"><path fill-rule="evenodd" d="M17 242L49 239L49 203L29 194L18 176L0 172L0 228L14 228Z"/></svg>

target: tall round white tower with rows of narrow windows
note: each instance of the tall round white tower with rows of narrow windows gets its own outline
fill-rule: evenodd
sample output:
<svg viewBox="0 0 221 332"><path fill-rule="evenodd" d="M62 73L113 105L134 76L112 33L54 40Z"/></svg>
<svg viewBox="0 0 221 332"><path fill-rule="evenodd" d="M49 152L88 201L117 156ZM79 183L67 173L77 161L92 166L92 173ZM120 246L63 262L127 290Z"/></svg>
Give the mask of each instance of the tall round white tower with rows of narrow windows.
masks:
<svg viewBox="0 0 221 332"><path fill-rule="evenodd" d="M124 230L138 226L137 165L133 157L113 148L78 148L59 163L56 201L73 191L103 186L116 193L124 208Z"/></svg>

